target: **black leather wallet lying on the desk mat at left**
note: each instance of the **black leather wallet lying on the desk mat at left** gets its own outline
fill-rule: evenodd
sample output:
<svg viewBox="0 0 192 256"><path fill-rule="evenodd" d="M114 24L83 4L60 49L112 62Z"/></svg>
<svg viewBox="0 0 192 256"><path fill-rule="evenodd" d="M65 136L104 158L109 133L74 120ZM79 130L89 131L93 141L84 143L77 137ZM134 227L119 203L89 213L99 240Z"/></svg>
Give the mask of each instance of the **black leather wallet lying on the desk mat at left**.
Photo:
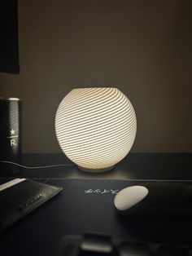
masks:
<svg viewBox="0 0 192 256"><path fill-rule="evenodd" d="M0 232L62 190L31 179L14 179L0 185Z"/></svg>

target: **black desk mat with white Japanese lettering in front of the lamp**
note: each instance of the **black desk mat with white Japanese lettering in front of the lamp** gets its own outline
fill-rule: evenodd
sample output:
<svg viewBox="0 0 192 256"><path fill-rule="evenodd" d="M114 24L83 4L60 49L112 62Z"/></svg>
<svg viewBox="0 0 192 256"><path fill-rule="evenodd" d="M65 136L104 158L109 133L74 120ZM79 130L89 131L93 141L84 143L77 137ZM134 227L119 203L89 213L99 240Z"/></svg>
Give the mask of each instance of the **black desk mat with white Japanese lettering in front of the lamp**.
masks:
<svg viewBox="0 0 192 256"><path fill-rule="evenodd" d="M36 179L63 192L0 236L0 255L55 255L62 236L94 232L116 239L191 244L189 220L122 221L113 205L120 189L143 181Z"/></svg>

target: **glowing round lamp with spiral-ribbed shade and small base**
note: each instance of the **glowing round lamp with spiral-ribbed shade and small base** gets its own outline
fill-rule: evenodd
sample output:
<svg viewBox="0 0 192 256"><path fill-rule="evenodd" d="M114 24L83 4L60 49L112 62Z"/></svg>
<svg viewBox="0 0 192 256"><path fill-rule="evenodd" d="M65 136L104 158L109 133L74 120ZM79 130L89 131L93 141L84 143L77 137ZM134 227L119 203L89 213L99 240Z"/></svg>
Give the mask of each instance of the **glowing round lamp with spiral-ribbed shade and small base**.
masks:
<svg viewBox="0 0 192 256"><path fill-rule="evenodd" d="M55 117L59 145L81 170L110 170L132 148L136 130L133 105L117 88L73 89Z"/></svg>

